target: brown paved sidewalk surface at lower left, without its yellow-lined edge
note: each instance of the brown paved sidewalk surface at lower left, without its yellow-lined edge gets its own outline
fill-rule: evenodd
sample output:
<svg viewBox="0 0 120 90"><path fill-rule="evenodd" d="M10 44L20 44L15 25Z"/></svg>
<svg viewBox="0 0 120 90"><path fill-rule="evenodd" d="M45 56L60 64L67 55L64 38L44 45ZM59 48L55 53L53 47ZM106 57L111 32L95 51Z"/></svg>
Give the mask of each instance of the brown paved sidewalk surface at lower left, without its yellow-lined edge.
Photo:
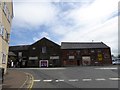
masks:
<svg viewBox="0 0 120 90"><path fill-rule="evenodd" d="M27 88L25 87L25 83L27 83L27 79L29 78L25 72L21 72L14 69L8 69L2 85L2 90L12 89L12 88ZM29 81L29 80L28 80Z"/></svg>

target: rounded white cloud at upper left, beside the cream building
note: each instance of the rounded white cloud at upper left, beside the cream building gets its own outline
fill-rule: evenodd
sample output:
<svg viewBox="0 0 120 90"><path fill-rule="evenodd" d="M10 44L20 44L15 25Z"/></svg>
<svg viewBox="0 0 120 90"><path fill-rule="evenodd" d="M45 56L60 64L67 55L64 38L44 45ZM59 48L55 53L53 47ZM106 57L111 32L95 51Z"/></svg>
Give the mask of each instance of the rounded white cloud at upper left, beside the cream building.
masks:
<svg viewBox="0 0 120 90"><path fill-rule="evenodd" d="M56 8L47 2L16 2L14 4L14 12L14 25L28 28L50 24L57 14Z"/></svg>

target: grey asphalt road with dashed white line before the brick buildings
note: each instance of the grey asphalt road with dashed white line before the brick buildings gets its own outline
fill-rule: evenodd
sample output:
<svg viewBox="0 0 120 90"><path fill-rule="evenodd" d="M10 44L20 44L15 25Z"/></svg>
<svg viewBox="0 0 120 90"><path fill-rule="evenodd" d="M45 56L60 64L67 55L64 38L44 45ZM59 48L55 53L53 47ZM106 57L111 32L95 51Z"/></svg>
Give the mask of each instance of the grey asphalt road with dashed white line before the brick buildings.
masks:
<svg viewBox="0 0 120 90"><path fill-rule="evenodd" d="M33 88L118 88L117 66L22 68L34 77Z"/></svg>

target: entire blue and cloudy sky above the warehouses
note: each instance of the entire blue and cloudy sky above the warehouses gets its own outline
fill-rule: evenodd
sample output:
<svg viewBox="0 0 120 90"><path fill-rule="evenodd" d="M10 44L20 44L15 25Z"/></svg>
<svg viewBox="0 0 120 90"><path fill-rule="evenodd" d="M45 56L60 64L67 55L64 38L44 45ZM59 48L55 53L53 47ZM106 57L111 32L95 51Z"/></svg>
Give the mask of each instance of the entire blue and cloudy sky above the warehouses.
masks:
<svg viewBox="0 0 120 90"><path fill-rule="evenodd" d="M104 42L118 53L119 0L13 0L10 46L43 37L61 42Z"/></svg>

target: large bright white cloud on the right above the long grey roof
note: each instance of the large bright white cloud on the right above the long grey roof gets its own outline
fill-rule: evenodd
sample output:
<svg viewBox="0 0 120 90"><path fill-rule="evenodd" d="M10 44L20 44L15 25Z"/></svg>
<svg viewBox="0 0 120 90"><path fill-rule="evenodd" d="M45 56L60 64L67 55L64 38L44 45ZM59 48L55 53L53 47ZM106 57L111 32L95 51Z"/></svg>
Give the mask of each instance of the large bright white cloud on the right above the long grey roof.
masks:
<svg viewBox="0 0 120 90"><path fill-rule="evenodd" d="M68 28L60 41L104 42L112 53L118 52L118 18L108 20L117 12L118 0L95 0L89 6L71 10L67 18L73 19L75 26Z"/></svg>

